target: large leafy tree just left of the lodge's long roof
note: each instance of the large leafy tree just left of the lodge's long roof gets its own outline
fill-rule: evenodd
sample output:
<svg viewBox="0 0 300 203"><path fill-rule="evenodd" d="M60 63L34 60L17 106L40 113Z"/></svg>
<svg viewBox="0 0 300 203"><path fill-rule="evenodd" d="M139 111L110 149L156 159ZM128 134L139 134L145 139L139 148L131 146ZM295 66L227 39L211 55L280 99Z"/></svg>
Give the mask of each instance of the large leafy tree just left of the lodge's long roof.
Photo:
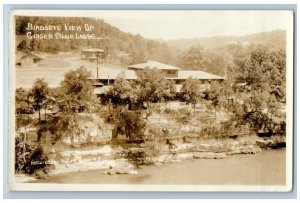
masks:
<svg viewBox="0 0 300 203"><path fill-rule="evenodd" d="M57 88L56 103L58 106L58 119L55 121L58 137L68 133L72 136L80 135L78 128L80 120L89 119L79 113L96 111L98 100L93 95L91 73L80 67L67 72L64 80Z"/></svg>

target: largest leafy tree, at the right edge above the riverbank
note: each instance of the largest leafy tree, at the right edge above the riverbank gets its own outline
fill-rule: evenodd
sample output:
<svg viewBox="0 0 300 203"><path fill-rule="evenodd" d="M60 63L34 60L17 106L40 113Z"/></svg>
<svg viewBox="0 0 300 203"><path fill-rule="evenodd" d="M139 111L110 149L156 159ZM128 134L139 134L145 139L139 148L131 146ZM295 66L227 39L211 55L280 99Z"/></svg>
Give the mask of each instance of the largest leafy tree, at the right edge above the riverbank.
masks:
<svg viewBox="0 0 300 203"><path fill-rule="evenodd" d="M271 130L285 103L285 52L255 47L235 60L234 87L243 104L236 109L240 122Z"/></svg>

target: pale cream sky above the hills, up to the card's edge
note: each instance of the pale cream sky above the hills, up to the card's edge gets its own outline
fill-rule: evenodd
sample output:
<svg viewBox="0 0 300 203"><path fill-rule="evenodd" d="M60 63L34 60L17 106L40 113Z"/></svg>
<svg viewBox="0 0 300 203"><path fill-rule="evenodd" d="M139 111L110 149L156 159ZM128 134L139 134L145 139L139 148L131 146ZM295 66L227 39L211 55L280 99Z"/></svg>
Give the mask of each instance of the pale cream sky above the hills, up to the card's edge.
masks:
<svg viewBox="0 0 300 203"><path fill-rule="evenodd" d="M98 11L97 18L124 32L150 39L241 36L276 29L292 22L289 11Z"/></svg>

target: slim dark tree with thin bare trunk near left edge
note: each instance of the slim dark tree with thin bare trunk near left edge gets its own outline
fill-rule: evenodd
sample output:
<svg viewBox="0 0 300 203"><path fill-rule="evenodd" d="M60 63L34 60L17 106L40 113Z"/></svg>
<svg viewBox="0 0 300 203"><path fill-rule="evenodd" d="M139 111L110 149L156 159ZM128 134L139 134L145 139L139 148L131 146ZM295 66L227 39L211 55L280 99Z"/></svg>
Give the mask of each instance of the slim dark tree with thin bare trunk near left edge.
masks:
<svg viewBox="0 0 300 203"><path fill-rule="evenodd" d="M47 100L48 93L48 83L43 78L37 79L32 86L30 94L33 97L33 108L39 113L39 123L41 123L41 109Z"/></svg>

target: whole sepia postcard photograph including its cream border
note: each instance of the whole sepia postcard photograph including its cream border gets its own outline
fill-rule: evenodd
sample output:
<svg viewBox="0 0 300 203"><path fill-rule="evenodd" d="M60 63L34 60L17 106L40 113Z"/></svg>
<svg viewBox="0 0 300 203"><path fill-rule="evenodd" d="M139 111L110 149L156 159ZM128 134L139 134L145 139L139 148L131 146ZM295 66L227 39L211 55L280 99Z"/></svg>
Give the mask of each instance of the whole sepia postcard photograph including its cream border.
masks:
<svg viewBox="0 0 300 203"><path fill-rule="evenodd" d="M293 15L12 11L10 189L290 191Z"/></svg>

